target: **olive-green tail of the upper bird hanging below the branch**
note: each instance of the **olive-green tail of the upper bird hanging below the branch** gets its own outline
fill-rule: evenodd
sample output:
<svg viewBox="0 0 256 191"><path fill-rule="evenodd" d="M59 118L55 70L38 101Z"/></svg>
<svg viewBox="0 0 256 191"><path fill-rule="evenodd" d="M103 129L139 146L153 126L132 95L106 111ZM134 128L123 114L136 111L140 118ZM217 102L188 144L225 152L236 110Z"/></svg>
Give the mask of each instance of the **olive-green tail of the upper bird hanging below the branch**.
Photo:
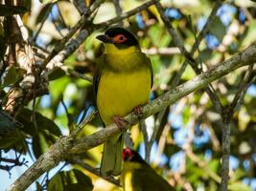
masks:
<svg viewBox="0 0 256 191"><path fill-rule="evenodd" d="M124 134L121 134L105 141L101 164L101 174L103 176L117 176L122 172L124 137Z"/></svg>

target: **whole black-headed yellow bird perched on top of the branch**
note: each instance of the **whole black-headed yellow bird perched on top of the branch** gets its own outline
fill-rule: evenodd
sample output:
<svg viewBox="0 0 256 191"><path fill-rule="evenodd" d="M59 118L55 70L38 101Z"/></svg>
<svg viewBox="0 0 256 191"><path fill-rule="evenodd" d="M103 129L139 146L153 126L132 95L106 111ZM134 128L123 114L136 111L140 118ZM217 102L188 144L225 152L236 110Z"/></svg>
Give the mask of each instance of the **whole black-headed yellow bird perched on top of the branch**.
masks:
<svg viewBox="0 0 256 191"><path fill-rule="evenodd" d="M123 28L110 28L97 39L105 43L93 77L100 116L105 125L113 122L122 128L122 117L149 101L152 84L151 60L142 53L135 36ZM124 132L104 143L101 163L103 176L122 172Z"/></svg>

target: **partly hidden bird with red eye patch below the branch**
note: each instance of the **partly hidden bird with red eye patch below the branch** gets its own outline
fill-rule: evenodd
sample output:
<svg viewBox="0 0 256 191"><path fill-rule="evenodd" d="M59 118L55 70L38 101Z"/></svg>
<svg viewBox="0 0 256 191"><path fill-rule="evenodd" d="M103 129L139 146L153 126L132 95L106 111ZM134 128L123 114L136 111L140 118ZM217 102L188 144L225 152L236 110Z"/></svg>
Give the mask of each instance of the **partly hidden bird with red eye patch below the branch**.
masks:
<svg viewBox="0 0 256 191"><path fill-rule="evenodd" d="M123 150L124 169L121 176L124 191L172 191L166 180L151 168L134 150Z"/></svg>

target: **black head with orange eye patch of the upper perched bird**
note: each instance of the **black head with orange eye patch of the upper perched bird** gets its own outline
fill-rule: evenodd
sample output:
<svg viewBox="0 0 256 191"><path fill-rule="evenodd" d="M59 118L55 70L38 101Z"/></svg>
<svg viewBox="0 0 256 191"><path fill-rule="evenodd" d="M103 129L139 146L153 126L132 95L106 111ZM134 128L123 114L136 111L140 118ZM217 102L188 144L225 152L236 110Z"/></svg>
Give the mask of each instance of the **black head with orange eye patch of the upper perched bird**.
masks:
<svg viewBox="0 0 256 191"><path fill-rule="evenodd" d="M119 49L138 46L138 40L131 32L118 27L110 28L105 31L105 34L98 35L96 38L104 43L114 44Z"/></svg>

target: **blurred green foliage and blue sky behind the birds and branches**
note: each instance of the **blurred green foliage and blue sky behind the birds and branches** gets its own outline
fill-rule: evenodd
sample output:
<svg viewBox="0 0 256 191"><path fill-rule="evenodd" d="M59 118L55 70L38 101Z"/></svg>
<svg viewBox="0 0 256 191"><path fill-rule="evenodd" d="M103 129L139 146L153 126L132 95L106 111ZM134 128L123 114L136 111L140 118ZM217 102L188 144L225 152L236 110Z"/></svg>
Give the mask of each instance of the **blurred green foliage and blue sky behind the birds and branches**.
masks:
<svg viewBox="0 0 256 191"><path fill-rule="evenodd" d="M27 11L22 12L21 21L28 30L28 39L35 53L35 64L40 65L45 56L53 52L59 40L79 22L84 9L97 5L92 13L92 22L97 24L135 9L143 3L145 1L139 0L100 3L94 0L25 1L22 7ZM183 38L187 50L192 49L215 3L214 0L161 1L165 16ZM19 11L22 11L21 8ZM5 12L2 14L2 18L10 16ZM256 3L253 1L222 1L216 15L209 32L203 36L194 55L203 71L244 50L256 40ZM1 40L8 35L4 30L5 22L2 18ZM175 81L185 58L175 46L154 6L115 25L133 32L138 37L142 51L151 58L154 74L151 99L196 76L188 65L180 79ZM21 80L25 78L24 70L15 64L1 69L0 99L5 113L0 116L0 124L10 124L10 127L6 130L0 125L0 190L8 188L28 166L49 150L58 137L68 135L72 130L72 124L79 123L93 111L95 105L92 84L76 74L83 74L88 79L93 75L97 58L103 53L103 45L95 36L104 31L90 31L81 45L77 46L76 51L67 54L63 59L63 63L60 64L62 68L49 69L46 82L41 82L46 84L47 91L39 96L33 96L27 104L19 103L19 106L22 105L19 112L10 112L8 103L13 88L20 86ZM76 32L73 36L74 43L79 35L80 33ZM3 47L4 45L1 50L4 50ZM1 52L1 57L4 53ZM76 74L67 74L63 66ZM222 106L232 102L247 70L247 67L243 67L212 84ZM8 113L11 115L10 121L9 117L5 117ZM153 133L155 127L158 131ZM201 90L179 99L161 113L147 118L144 125L133 127L129 133L134 142L133 148L144 159L145 136L141 129L144 129L144 133L146 131L149 138L154 136L150 143L146 141L147 145L151 145L150 164L158 174L174 185L176 190L203 191L218 190L220 185L221 127L221 114L216 111L209 96ZM79 138L101 128L102 123L96 115L82 128ZM235 109L230 128L229 190L256 190L255 80L247 88L243 104ZM102 149L102 145L95 147L85 151L78 158L98 168ZM16 163L8 159L13 159ZM68 177L77 179L72 182L72 179L70 180L68 190L73 190L74 186L77 186L76 190L91 190L91 183L94 186L93 190L122 190L90 173L81 165L72 163L74 162L68 160L61 162L58 167L44 174L30 186L29 190L47 190L51 184L61 183L63 178Z"/></svg>

